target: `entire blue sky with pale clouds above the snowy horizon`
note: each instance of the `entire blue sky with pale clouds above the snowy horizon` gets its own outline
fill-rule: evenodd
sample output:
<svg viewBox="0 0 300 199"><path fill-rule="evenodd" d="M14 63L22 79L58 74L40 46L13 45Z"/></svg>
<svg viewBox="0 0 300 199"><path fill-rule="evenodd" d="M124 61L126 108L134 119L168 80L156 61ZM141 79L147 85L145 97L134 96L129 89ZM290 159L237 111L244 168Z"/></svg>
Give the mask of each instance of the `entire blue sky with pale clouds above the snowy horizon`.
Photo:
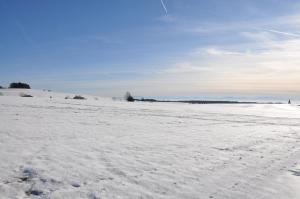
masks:
<svg viewBox="0 0 300 199"><path fill-rule="evenodd" d="M292 0L0 0L0 85L122 96L300 93Z"/></svg>

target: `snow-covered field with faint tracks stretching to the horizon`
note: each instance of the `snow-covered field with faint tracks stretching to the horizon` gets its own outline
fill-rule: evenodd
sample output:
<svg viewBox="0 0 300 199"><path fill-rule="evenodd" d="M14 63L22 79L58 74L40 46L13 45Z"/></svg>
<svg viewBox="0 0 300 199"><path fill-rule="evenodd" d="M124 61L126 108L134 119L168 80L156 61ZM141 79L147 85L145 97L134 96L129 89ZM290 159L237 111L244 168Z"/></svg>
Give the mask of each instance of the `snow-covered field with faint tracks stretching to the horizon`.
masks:
<svg viewBox="0 0 300 199"><path fill-rule="evenodd" d="M0 92L0 198L300 198L299 106Z"/></svg>

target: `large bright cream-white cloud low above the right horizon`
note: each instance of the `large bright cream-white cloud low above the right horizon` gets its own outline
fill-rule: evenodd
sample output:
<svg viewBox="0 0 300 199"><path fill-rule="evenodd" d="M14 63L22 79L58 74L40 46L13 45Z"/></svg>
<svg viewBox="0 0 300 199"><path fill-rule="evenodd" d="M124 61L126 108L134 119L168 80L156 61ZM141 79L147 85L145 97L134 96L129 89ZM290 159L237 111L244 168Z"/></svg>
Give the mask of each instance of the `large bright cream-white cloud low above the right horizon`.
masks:
<svg viewBox="0 0 300 199"><path fill-rule="evenodd" d="M260 46L262 45L262 46ZM266 41L249 49L240 46L197 49L162 75L189 85L193 92L297 93L300 91L300 40ZM252 48L254 47L254 48ZM239 51L226 50L235 48ZM264 50L257 51L257 48Z"/></svg>

